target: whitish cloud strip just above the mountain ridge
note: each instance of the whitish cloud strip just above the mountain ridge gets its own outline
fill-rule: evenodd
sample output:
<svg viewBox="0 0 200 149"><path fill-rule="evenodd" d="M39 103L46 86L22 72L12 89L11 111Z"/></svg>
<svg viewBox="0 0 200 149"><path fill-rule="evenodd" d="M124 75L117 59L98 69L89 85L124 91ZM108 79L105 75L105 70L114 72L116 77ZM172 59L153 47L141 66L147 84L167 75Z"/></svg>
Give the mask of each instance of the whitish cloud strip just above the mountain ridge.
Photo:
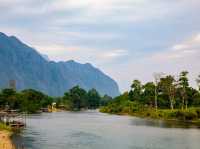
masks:
<svg viewBox="0 0 200 149"><path fill-rule="evenodd" d="M98 66L112 63L118 58L128 56L128 51L124 49L106 50L61 44L35 45L34 47L40 53L48 55L51 60L67 61L74 59L81 63L92 62Z"/></svg>

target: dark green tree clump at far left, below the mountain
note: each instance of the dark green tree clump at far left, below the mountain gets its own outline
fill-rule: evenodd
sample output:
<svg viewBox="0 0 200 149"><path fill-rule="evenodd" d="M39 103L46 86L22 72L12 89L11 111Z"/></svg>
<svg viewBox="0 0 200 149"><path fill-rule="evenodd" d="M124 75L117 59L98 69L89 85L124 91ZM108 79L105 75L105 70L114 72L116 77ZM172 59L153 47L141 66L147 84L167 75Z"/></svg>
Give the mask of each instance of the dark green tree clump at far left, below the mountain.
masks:
<svg viewBox="0 0 200 149"><path fill-rule="evenodd" d="M0 93L0 105L2 109L18 109L21 112L35 113L40 108L51 105L52 101L51 97L33 89L22 92L3 89Z"/></svg>

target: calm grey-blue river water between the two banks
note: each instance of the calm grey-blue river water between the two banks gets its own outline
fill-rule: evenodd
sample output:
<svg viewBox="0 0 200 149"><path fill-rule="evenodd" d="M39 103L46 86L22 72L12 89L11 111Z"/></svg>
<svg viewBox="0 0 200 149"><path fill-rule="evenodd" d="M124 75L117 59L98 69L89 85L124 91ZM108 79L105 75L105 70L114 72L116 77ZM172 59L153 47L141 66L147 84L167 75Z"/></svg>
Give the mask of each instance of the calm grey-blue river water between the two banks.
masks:
<svg viewBox="0 0 200 149"><path fill-rule="evenodd" d="M32 115L14 137L26 149L200 149L200 129L178 123L85 112Z"/></svg>

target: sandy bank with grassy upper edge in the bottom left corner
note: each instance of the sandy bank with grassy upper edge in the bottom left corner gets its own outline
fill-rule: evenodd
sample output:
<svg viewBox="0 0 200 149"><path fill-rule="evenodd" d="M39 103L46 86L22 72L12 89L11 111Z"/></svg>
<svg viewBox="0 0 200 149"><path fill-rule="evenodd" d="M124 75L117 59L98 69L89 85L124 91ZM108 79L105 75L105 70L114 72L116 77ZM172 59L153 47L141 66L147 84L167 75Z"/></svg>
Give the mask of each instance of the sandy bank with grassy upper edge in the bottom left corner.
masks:
<svg viewBox="0 0 200 149"><path fill-rule="evenodd" d="M11 139L12 134L10 127L0 123L0 149L15 149Z"/></svg>

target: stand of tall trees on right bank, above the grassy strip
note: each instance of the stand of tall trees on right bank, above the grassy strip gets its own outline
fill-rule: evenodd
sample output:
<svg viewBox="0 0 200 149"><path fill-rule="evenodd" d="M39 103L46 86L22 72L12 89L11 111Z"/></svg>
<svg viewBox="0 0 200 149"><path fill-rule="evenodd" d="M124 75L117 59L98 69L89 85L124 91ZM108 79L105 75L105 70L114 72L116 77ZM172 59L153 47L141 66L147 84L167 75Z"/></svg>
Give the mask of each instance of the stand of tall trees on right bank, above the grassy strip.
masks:
<svg viewBox="0 0 200 149"><path fill-rule="evenodd" d="M200 106L200 75L196 79L198 89L189 86L188 72L182 71L175 79L172 75L155 74L154 82L142 84L134 80L128 92L131 101L157 108L180 108Z"/></svg>

